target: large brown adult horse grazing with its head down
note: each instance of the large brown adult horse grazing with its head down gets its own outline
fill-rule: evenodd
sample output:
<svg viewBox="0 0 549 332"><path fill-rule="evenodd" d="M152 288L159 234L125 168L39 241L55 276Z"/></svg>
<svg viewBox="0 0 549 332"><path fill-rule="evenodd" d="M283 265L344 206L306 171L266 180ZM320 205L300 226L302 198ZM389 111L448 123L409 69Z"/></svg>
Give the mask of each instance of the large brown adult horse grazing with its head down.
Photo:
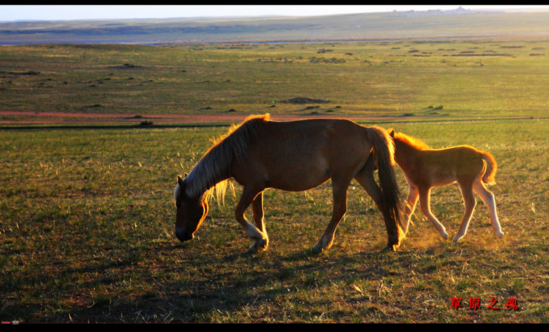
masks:
<svg viewBox="0 0 549 332"><path fill-rule="evenodd" d="M176 237L180 241L194 237L208 213L207 196L214 188L224 195L226 181L234 178L243 187L235 218L255 240L248 252L266 250L264 190L305 191L331 178L331 220L312 248L320 254L334 241L336 227L347 211L347 189L355 178L382 212L386 249L396 250L403 233L393 152L393 141L382 128L346 119L271 121L268 114L250 116L214 143L188 175L177 176ZM375 182L376 167L381 187ZM244 216L250 204L255 225Z"/></svg>

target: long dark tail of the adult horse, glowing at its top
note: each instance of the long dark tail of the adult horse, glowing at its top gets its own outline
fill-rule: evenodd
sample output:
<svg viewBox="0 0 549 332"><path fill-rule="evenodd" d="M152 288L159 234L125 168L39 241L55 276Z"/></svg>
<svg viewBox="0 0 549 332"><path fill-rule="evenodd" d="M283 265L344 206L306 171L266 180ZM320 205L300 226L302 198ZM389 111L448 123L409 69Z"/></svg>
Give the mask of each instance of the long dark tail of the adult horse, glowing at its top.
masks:
<svg viewBox="0 0 549 332"><path fill-rule="evenodd" d="M377 126L366 130L366 137L372 144L373 156L377 165L379 187L382 192L382 213L389 235L388 249L395 250L404 238L404 232L400 227L401 193L395 176L395 143L386 130Z"/></svg>

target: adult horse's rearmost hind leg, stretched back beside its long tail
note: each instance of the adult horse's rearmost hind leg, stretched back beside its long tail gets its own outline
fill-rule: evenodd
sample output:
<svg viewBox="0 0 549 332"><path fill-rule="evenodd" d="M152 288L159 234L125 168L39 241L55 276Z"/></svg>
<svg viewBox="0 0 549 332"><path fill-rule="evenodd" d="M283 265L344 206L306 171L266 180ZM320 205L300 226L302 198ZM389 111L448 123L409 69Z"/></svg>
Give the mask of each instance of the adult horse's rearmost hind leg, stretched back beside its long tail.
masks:
<svg viewBox="0 0 549 332"><path fill-rule="evenodd" d="M390 222L390 217L386 215L385 209L384 209L384 202L382 200L382 191L379 189L379 186L377 185L377 182L375 182L375 178L373 175L373 168L372 167L364 167L362 170L358 172L358 174L355 176L355 180L357 180L358 183L366 190L368 195L373 199L375 202L375 205L377 205L377 209L382 212L383 219L385 221L385 228L387 230L387 246L386 249L388 250L395 250L394 246L399 245L399 230L395 228L395 224Z"/></svg>

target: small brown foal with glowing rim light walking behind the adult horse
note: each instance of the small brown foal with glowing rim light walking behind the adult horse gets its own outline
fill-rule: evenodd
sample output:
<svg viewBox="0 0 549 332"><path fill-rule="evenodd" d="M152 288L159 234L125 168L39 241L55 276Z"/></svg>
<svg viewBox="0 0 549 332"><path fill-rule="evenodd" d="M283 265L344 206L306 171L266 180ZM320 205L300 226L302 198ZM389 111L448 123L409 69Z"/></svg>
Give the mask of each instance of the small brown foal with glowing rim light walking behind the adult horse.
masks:
<svg viewBox="0 0 549 332"><path fill-rule="evenodd" d="M498 220L493 193L484 185L493 185L498 164L489 152L477 150L470 145L459 145L447 149L430 149L419 139L410 137L393 129L388 130L395 142L395 161L404 171L408 182L408 199L401 225L404 234L408 232L410 217L414 213L417 200L421 211L428 217L436 230L447 238L446 230L433 215L430 208L430 191L432 187L441 187L458 183L465 204L465 215L454 242L459 241L467 233L467 227L473 215L476 200L474 192L480 195L484 204L488 206L490 220L495 234L501 238L504 233Z"/></svg>

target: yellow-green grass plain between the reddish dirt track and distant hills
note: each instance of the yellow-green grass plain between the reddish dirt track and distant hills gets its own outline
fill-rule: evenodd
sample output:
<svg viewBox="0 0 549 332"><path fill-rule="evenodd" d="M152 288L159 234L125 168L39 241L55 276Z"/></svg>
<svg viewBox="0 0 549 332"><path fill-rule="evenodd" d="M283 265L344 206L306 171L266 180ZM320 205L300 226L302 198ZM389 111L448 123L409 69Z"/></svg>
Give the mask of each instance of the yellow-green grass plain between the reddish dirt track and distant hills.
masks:
<svg viewBox="0 0 549 332"><path fill-rule="evenodd" d="M5 46L0 109L30 111L3 120L45 111L285 115L311 113L282 103L309 97L330 101L318 115L545 117L547 49L542 39Z"/></svg>

